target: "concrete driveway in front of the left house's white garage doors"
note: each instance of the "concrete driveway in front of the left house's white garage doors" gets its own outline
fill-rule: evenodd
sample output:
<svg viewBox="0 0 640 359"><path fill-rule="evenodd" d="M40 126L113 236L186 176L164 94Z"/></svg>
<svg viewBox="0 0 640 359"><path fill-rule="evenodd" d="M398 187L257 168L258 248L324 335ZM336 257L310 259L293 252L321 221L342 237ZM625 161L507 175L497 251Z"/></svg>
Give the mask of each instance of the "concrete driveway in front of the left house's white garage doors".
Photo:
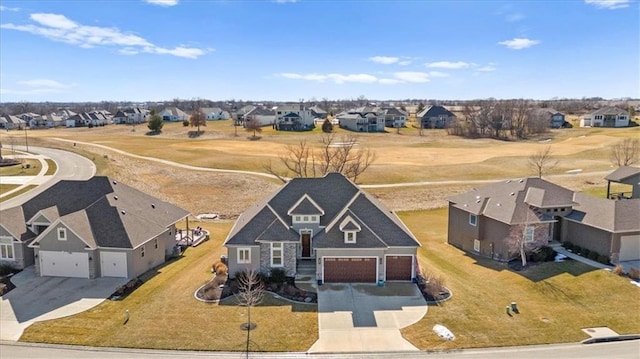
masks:
<svg viewBox="0 0 640 359"><path fill-rule="evenodd" d="M16 341L34 322L66 317L100 304L127 279L39 277L31 266L11 281L16 288L0 301L0 340Z"/></svg>

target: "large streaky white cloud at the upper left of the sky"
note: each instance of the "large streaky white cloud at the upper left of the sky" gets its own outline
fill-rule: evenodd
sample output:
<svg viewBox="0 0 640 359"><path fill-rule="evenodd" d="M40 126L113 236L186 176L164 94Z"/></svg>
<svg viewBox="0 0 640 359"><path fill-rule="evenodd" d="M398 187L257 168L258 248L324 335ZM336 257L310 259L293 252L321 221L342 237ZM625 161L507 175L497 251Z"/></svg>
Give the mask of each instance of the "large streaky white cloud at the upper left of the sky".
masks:
<svg viewBox="0 0 640 359"><path fill-rule="evenodd" d="M30 19L36 24L14 25L9 23L0 25L0 28L28 32L82 48L115 46L119 47L119 53L126 55L144 52L196 59L212 51L211 49L187 46L168 49L152 44L138 35L124 33L118 28L81 25L59 14L31 14Z"/></svg>

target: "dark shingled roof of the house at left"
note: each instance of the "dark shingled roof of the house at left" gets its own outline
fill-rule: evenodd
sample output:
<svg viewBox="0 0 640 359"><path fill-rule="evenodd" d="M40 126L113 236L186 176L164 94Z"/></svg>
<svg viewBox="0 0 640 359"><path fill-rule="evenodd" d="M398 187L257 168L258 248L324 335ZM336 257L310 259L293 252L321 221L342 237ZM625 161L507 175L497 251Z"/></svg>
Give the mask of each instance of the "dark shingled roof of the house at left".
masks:
<svg viewBox="0 0 640 359"><path fill-rule="evenodd" d="M23 212L17 222L20 228L26 228L26 221L38 212L46 213L47 218L57 212L58 218L49 218L52 222L62 221L87 243L111 248L136 248L189 214L107 177L60 181L17 208ZM0 223L5 226L15 217L5 216L11 214L7 211L16 210L0 212Z"/></svg>

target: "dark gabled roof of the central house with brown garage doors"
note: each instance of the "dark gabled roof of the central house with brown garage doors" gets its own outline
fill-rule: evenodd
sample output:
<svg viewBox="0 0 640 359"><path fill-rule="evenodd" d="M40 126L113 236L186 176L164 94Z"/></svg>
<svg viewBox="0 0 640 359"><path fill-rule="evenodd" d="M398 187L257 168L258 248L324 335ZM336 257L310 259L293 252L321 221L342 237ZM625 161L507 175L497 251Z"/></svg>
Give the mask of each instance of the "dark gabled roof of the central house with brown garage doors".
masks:
<svg viewBox="0 0 640 359"><path fill-rule="evenodd" d="M271 197L244 212L227 236L225 245L255 245L267 240L264 233L276 233L272 232L276 230L278 236L271 240L299 241L299 234L292 229L291 214L303 207L303 212L323 211L320 231L313 233L316 248L420 245L395 213L339 173L322 178L292 179ZM361 228L355 247L344 243L340 223L346 218L351 218L354 226ZM327 228L326 232L323 228Z"/></svg>

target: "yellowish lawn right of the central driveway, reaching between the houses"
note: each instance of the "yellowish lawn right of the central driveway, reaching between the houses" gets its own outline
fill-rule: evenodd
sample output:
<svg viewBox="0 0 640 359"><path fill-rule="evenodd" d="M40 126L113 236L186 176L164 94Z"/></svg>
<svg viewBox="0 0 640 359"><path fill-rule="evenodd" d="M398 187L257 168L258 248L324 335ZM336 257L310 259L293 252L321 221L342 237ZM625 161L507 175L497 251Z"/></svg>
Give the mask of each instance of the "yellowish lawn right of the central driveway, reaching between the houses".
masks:
<svg viewBox="0 0 640 359"><path fill-rule="evenodd" d="M402 331L418 348L449 349L577 342L580 329L608 326L620 334L640 333L640 289L628 278L575 261L547 262L513 272L494 261L466 255L446 244L447 210L402 213L420 239L420 265L445 277L450 301ZM518 303L520 314L505 307ZM443 341L432 328L455 335Z"/></svg>

